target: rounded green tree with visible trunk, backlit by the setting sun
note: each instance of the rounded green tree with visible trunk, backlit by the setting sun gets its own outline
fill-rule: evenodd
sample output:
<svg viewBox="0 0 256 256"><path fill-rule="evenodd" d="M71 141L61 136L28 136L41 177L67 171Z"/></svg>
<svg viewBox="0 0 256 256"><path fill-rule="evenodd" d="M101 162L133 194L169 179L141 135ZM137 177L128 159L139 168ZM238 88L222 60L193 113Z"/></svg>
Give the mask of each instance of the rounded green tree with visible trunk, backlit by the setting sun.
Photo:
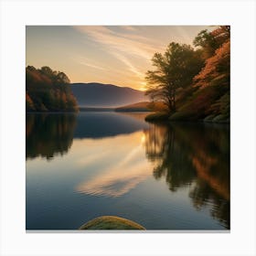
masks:
<svg viewBox="0 0 256 256"><path fill-rule="evenodd" d="M200 53L189 45L172 42L165 53L155 53L155 70L146 72L146 95L153 101L163 101L168 112L176 112L176 91L191 85L203 65Z"/></svg>

